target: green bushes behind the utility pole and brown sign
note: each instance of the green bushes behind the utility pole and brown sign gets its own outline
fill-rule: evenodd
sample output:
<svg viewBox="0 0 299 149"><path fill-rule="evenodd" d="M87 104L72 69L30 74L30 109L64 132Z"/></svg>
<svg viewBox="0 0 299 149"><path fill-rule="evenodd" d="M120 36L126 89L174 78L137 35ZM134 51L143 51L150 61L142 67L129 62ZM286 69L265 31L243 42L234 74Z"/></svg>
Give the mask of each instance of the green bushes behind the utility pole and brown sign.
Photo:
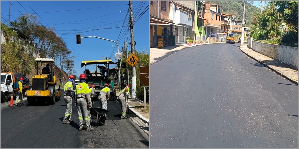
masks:
<svg viewBox="0 0 299 149"><path fill-rule="evenodd" d="M131 51L128 51L128 56L131 54ZM141 52L136 52L135 55L139 58L138 62L135 64L136 68L136 97L139 100L144 100L143 87L140 86L140 76L139 76L139 66L149 66L149 53L146 49ZM126 62L126 54L123 54L123 59L121 63ZM127 62L126 62L127 64ZM132 86L132 67L129 65L129 83ZM127 69L120 69L120 73L124 73L125 77L128 78ZM149 101L149 87L146 87L146 98L147 102Z"/></svg>

